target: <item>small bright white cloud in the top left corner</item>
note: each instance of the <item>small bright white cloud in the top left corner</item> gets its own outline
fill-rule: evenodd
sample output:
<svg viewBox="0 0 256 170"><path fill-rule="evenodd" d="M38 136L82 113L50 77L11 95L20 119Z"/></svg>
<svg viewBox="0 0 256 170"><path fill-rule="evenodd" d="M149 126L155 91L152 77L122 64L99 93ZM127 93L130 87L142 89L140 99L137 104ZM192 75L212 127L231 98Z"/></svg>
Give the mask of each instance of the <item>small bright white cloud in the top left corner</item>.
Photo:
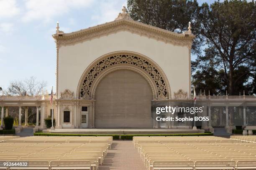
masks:
<svg viewBox="0 0 256 170"><path fill-rule="evenodd" d="M15 0L0 0L0 18L13 17L19 13Z"/></svg>

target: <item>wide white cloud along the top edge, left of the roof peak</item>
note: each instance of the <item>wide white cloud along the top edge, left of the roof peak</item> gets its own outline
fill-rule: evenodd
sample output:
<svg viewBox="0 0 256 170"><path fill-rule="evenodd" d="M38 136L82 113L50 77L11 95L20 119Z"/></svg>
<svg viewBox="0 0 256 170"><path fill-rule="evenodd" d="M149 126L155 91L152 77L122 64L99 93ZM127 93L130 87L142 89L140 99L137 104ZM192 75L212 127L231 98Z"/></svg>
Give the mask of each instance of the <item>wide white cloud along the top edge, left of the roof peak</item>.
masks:
<svg viewBox="0 0 256 170"><path fill-rule="evenodd" d="M93 0L26 0L22 20L49 22L53 17L68 13L74 8L89 7Z"/></svg>

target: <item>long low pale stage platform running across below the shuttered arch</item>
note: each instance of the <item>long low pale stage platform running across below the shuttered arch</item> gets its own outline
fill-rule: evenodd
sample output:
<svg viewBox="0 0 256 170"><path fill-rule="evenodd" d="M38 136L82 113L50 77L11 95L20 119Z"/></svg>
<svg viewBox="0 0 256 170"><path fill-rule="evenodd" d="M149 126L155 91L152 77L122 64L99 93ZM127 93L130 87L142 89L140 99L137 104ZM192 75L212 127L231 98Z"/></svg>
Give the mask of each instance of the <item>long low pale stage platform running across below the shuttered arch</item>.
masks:
<svg viewBox="0 0 256 170"><path fill-rule="evenodd" d="M79 133L79 134L187 134L187 133L204 133L204 130L192 129L55 129L43 130L44 133Z"/></svg>

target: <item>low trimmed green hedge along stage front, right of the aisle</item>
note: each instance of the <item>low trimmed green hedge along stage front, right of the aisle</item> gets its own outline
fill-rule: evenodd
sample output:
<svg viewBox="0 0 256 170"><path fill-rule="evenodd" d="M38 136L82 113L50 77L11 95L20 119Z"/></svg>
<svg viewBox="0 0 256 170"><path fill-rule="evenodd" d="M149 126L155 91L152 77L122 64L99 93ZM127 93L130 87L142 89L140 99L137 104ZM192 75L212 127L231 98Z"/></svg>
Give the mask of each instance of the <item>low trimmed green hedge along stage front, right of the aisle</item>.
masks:
<svg viewBox="0 0 256 170"><path fill-rule="evenodd" d="M188 134L150 134L150 135L120 135L122 140L132 140L133 136L212 136L213 133L188 133Z"/></svg>

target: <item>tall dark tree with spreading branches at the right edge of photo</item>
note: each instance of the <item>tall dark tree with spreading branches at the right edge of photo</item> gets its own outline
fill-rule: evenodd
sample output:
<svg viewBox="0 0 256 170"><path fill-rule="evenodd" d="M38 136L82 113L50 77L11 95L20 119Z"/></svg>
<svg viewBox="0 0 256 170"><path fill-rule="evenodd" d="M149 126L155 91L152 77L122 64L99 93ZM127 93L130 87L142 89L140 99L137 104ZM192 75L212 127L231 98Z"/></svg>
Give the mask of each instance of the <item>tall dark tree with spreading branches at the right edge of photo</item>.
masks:
<svg viewBox="0 0 256 170"><path fill-rule="evenodd" d="M202 4L197 16L200 34L204 37L205 56L197 60L197 68L212 65L223 70L229 95L237 95L241 84L256 71L255 3L246 0L225 0L212 5ZM240 88L240 87L239 87ZM243 88L243 87L241 87Z"/></svg>

